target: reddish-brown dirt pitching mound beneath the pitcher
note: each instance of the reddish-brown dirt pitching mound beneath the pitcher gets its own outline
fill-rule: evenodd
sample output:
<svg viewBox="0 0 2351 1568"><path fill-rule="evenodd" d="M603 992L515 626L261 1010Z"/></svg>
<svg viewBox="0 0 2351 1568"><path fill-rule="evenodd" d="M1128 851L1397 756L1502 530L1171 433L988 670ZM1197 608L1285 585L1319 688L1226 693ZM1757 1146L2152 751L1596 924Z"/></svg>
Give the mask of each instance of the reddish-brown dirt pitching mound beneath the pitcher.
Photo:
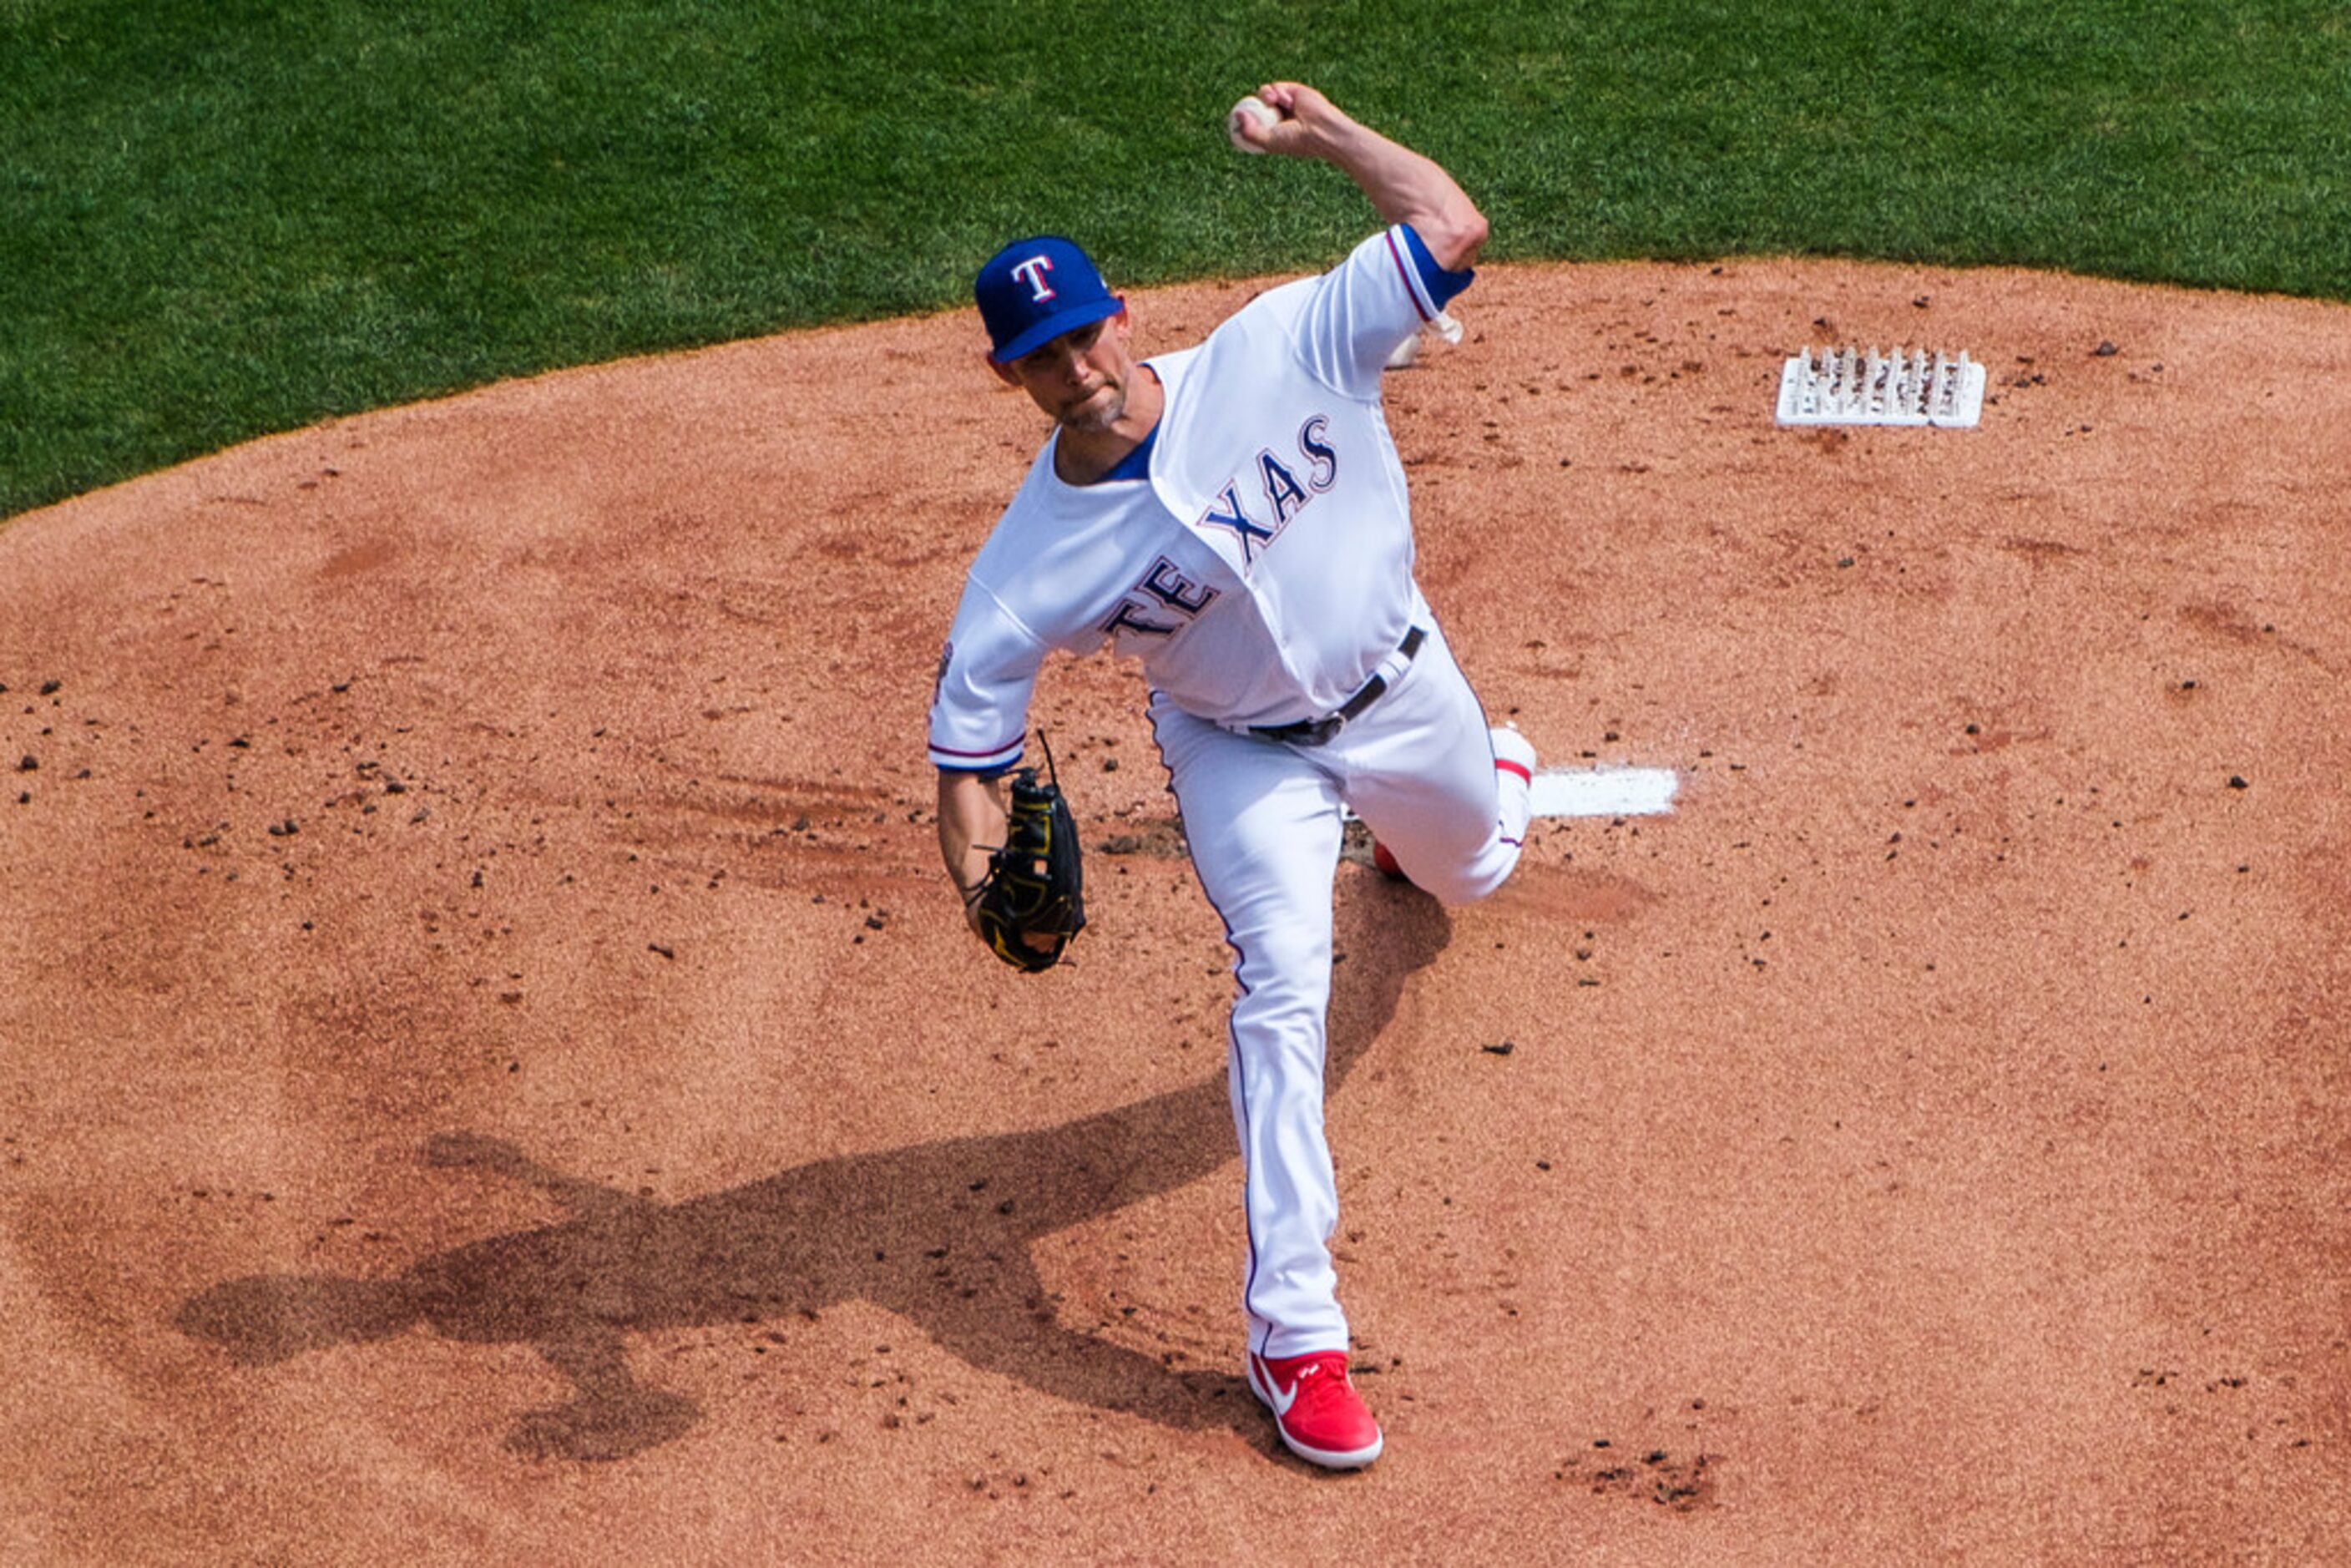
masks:
<svg viewBox="0 0 2351 1568"><path fill-rule="evenodd" d="M1136 299L1145 350L1246 299ZM1547 766L1340 867L1389 1455L1237 1378L1227 954L1131 670L1016 976L922 724L1034 411L964 317L256 442L0 534L9 1561L2313 1561L2346 1519L2351 313L1488 268L1396 371ZM1782 430L1803 346L1977 430Z"/></svg>

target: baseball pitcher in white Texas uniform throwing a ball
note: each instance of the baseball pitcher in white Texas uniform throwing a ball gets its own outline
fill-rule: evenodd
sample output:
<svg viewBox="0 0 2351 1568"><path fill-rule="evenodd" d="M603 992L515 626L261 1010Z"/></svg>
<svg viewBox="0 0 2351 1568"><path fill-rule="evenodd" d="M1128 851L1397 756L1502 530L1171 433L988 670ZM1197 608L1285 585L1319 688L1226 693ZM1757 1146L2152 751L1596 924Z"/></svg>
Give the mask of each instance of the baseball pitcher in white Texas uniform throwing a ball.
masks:
<svg viewBox="0 0 2351 1568"><path fill-rule="evenodd" d="M973 931L1046 969L1084 910L1067 804L1020 766L1037 670L1051 649L1105 642L1143 661L1192 863L1234 952L1248 1385L1293 1453L1347 1469L1382 1439L1347 1375L1328 1251L1324 1013L1345 811L1371 825L1382 870L1446 903L1483 898L1519 860L1535 752L1488 729L1413 581L1380 409L1389 355L1469 287L1486 219L1439 165L1312 87L1253 96L1234 141L1338 167L1385 228L1150 360L1074 242L1039 235L987 259L973 284L987 362L1053 430L971 564L929 741L940 853Z"/></svg>

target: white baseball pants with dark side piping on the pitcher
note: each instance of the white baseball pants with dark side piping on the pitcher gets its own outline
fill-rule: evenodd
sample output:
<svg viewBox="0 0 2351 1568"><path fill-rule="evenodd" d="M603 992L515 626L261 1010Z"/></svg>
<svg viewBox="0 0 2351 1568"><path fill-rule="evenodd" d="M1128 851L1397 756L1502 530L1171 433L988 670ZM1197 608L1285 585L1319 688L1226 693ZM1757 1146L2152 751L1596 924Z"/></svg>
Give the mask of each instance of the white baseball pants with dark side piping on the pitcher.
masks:
<svg viewBox="0 0 2351 1568"><path fill-rule="evenodd" d="M1234 952L1230 1081L1248 1215L1248 1349L1347 1349L1331 1267L1338 1185L1324 1140L1331 896L1345 809L1413 884L1444 903L1469 903L1519 863L1528 792L1498 790L1486 715L1439 632L1326 745L1234 733L1159 693L1152 729L1192 865Z"/></svg>

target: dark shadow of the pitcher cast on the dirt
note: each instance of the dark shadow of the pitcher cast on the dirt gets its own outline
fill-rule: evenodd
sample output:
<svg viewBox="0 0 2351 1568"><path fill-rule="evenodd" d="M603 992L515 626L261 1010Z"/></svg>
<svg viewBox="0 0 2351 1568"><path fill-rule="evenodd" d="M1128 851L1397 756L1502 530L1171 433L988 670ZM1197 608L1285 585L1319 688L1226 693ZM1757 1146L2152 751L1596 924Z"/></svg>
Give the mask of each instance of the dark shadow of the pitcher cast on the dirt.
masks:
<svg viewBox="0 0 2351 1568"><path fill-rule="evenodd" d="M1451 936L1434 900L1373 879L1354 879L1340 919L1349 957L1333 980L1331 1091L1387 1027L1411 973ZM1041 1237L1234 1159L1223 1074L1063 1126L820 1159L677 1204L548 1171L496 1138L440 1133L426 1143L428 1164L529 1182L569 1218L421 1258L381 1281L230 1279L193 1295L174 1321L247 1366L411 1326L463 1342L531 1345L574 1396L520 1415L508 1446L534 1458L621 1460L701 1418L684 1394L637 1382L630 1333L759 1324L870 1300L971 1366L1044 1394L1178 1429L1227 1427L1272 1450L1237 1375L1176 1371L1060 1324L1030 1260Z"/></svg>

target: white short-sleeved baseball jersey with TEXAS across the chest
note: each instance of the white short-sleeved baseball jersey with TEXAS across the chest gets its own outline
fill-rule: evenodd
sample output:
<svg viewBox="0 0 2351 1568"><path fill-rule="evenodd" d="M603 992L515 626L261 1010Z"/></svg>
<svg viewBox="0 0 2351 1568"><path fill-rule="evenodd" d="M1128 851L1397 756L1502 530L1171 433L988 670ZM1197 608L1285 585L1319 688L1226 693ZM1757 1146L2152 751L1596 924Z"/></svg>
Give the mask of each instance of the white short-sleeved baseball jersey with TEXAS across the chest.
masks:
<svg viewBox="0 0 2351 1568"><path fill-rule="evenodd" d="M1418 256L1418 259L1415 259ZM1020 759L1037 668L1105 642L1213 724L1328 715L1427 607L1380 371L1441 310L1406 226L1260 294L1161 355L1143 477L1065 484L1037 454L964 585L931 705L931 762Z"/></svg>

